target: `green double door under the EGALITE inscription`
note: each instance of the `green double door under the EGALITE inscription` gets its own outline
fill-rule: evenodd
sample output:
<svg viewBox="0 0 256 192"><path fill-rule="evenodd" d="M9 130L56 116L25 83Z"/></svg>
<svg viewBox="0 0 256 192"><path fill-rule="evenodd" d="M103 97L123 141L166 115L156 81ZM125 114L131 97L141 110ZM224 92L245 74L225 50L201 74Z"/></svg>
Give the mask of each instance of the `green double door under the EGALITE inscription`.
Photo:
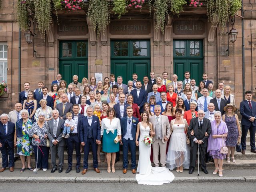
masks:
<svg viewBox="0 0 256 192"><path fill-rule="evenodd" d="M203 43L202 40L174 40L174 74L178 80L184 80L184 72L190 71L190 79L198 85L203 74Z"/></svg>

